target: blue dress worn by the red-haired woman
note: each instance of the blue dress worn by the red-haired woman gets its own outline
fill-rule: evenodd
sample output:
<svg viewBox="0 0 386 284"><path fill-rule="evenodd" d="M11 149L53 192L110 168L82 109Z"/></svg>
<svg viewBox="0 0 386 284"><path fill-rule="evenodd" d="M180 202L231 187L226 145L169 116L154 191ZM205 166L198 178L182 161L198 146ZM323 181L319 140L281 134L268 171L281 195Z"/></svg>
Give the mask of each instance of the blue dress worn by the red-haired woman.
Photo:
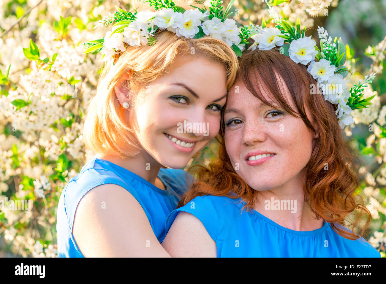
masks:
<svg viewBox="0 0 386 284"><path fill-rule="evenodd" d="M216 242L217 257L380 257L366 240L341 237L330 223L313 231L290 230L256 210L241 213L244 205L241 198L198 196L170 213L166 232L185 211L203 223Z"/></svg>

